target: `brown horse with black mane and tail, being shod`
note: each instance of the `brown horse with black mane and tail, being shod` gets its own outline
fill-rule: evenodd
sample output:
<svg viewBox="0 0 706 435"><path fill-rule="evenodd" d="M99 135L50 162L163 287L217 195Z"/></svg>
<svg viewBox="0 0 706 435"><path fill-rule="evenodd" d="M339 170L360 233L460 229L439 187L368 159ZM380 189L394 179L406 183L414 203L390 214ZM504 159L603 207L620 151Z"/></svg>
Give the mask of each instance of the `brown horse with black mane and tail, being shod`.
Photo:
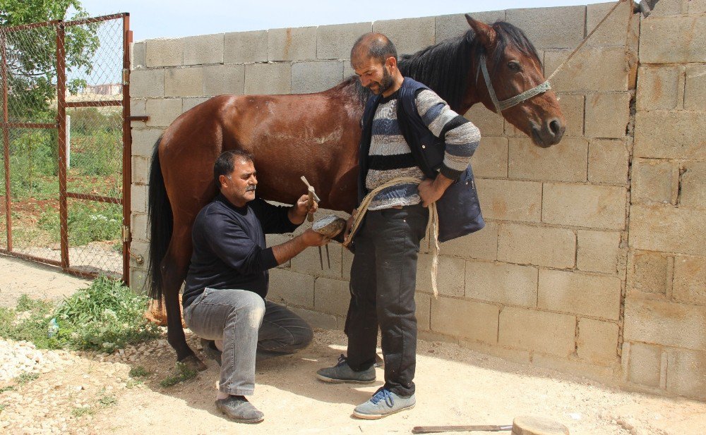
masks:
<svg viewBox="0 0 706 435"><path fill-rule="evenodd" d="M496 111L498 98L544 82L542 63L521 30L466 18L471 29L465 35L404 56L402 75L431 87L460 114L477 102ZM492 83L484 82L488 74L481 74L481 63ZM501 110L539 147L559 142L564 130L554 92L544 91L525 94L525 101ZM193 219L217 193L216 157L226 149L251 152L258 193L266 200L292 204L304 192L299 178L306 176L321 207L350 212L357 200L360 120L367 97L354 77L316 94L220 95L186 111L164 131L150 172L150 295L164 297L167 337L179 361L205 369L186 344L178 294L189 268Z"/></svg>

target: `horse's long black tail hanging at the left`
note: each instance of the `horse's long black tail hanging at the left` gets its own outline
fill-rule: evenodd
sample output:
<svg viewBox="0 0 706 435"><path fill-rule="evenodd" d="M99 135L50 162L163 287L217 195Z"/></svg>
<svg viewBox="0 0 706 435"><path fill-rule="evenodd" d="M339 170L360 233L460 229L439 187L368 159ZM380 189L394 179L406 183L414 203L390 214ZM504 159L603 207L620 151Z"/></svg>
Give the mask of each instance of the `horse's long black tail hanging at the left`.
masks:
<svg viewBox="0 0 706 435"><path fill-rule="evenodd" d="M172 239L174 216L172 204L167 197L167 188L164 187L162 166L160 165L160 142L155 143L150 167L150 191L148 197L148 215L150 217L150 264L147 269L147 278L150 297L162 303L162 270L161 264L167 255L169 240Z"/></svg>

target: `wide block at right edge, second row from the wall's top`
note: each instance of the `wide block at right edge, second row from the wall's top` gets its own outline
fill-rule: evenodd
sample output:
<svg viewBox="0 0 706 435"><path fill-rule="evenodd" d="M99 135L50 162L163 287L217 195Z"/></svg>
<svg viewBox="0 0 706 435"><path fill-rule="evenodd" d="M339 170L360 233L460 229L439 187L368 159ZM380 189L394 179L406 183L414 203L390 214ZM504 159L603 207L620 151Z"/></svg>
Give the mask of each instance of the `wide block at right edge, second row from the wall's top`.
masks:
<svg viewBox="0 0 706 435"><path fill-rule="evenodd" d="M640 25L640 63L706 59L706 16L650 17Z"/></svg>

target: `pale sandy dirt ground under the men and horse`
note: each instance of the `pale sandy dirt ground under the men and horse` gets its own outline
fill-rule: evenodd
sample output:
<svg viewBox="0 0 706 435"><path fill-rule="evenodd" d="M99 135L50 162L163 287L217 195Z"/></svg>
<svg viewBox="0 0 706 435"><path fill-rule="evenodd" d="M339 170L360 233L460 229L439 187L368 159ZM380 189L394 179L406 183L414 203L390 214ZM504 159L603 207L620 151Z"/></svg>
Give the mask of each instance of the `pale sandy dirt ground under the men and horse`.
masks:
<svg viewBox="0 0 706 435"><path fill-rule="evenodd" d="M0 305L5 306L13 304L20 293L59 298L87 282L4 256L0 256L0 270ZM196 347L196 338L187 336ZM410 434L419 425L511 424L518 415L556 419L572 435L701 434L706 427L706 403L630 393L457 345L424 341L417 351L417 407L381 420L359 420L351 412L382 385L382 369L377 369L378 382L364 387L325 384L313 375L316 369L333 364L345 351L345 343L340 331L316 330L314 342L301 353L258 364L256 392L250 399L265 413L261 424L236 424L222 418L213 404L218 379L213 361L207 362L208 369L196 379L160 386L174 367L174 355L164 341L146 345L135 362L77 355L61 370L42 374L34 386L30 383L13 391L14 400L23 405L6 405L0 421L8 415L26 414L20 408L32 405L42 409L35 419L54 419L52 407L42 403L42 393L75 388L87 395L80 400L96 400L98 391L110 391L115 400L96 406L93 413L68 419L61 433ZM152 374L135 384L127 374L138 365ZM76 395L71 397L78 400ZM6 429L12 434L41 433L41 429L27 431L13 424Z"/></svg>

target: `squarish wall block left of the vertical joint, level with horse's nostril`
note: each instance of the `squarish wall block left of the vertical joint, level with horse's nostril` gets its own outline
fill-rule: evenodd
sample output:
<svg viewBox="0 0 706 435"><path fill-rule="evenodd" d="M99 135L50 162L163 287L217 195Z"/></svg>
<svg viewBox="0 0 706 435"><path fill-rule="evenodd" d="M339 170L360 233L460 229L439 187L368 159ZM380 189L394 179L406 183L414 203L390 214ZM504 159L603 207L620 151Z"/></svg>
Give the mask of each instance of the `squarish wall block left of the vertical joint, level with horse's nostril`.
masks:
<svg viewBox="0 0 706 435"><path fill-rule="evenodd" d="M592 94L586 97L587 137L626 136L630 121L630 94Z"/></svg>

